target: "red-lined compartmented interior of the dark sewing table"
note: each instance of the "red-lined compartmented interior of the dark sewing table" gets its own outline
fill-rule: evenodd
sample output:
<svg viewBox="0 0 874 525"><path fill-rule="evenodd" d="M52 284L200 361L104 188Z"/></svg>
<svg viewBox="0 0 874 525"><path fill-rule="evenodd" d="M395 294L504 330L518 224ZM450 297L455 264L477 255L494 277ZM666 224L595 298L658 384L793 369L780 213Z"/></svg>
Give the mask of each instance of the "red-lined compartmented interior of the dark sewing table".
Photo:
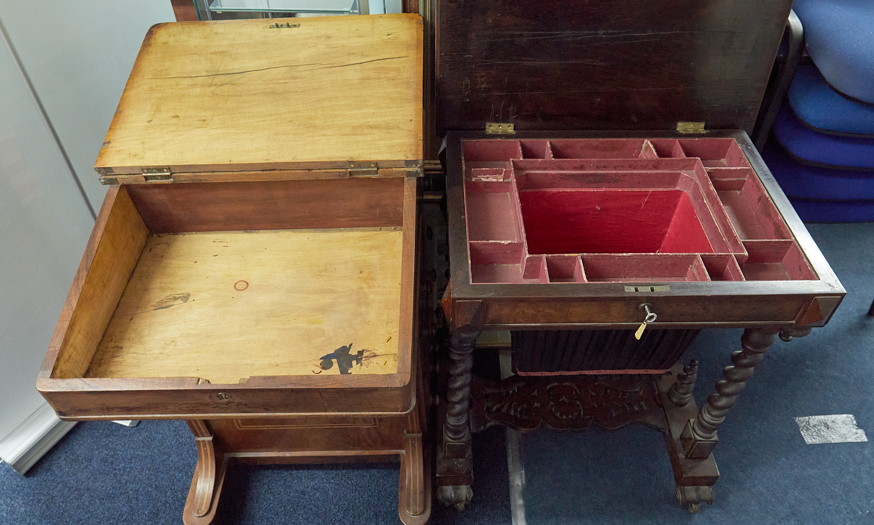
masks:
<svg viewBox="0 0 874 525"><path fill-rule="evenodd" d="M734 139L462 142L475 283L811 280Z"/></svg>

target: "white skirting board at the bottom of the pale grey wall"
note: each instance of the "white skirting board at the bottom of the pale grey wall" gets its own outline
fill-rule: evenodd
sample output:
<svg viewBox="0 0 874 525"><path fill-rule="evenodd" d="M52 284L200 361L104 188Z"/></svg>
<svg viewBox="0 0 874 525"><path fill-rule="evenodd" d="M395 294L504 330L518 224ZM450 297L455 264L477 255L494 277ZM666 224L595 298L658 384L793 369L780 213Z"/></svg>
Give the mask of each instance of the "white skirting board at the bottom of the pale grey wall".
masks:
<svg viewBox="0 0 874 525"><path fill-rule="evenodd" d="M51 406L43 404L0 441L0 459L24 475L75 425L75 421L61 421Z"/></svg>

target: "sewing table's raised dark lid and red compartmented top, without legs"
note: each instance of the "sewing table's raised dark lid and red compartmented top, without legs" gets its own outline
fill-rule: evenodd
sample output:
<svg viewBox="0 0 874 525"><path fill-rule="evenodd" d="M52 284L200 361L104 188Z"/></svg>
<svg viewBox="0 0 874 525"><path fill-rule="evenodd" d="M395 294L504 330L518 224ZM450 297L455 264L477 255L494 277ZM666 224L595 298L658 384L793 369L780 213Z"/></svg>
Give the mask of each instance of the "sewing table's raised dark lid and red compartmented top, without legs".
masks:
<svg viewBox="0 0 874 525"><path fill-rule="evenodd" d="M825 324L845 291L745 132L790 7L438 3L453 326L634 329L644 300L662 328ZM697 202L664 208L683 245L669 196Z"/></svg>

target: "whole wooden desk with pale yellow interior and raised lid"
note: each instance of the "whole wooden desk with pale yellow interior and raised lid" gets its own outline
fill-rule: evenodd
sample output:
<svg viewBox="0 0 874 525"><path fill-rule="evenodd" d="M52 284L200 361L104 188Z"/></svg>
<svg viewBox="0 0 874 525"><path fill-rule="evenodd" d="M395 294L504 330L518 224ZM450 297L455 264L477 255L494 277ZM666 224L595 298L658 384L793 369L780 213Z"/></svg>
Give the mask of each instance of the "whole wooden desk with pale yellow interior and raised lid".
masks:
<svg viewBox="0 0 874 525"><path fill-rule="evenodd" d="M430 515L417 327L422 21L158 24L38 390L60 418L184 419L184 522L229 459L400 459ZM159 452L156 452L159 453Z"/></svg>

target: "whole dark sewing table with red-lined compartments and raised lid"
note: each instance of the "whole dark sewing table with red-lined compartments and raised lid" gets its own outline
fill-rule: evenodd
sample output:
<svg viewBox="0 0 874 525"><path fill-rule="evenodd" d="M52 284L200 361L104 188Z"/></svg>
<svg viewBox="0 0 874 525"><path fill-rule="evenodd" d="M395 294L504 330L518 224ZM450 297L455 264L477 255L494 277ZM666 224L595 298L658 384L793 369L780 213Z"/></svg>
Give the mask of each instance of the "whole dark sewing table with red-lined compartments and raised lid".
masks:
<svg viewBox="0 0 874 525"><path fill-rule="evenodd" d="M753 368L845 294L746 135L790 5L438 3L445 504L472 497L471 432L592 422L661 431L677 500L712 502ZM677 360L701 328L745 331L699 410ZM512 332L514 376L472 376L483 330Z"/></svg>

